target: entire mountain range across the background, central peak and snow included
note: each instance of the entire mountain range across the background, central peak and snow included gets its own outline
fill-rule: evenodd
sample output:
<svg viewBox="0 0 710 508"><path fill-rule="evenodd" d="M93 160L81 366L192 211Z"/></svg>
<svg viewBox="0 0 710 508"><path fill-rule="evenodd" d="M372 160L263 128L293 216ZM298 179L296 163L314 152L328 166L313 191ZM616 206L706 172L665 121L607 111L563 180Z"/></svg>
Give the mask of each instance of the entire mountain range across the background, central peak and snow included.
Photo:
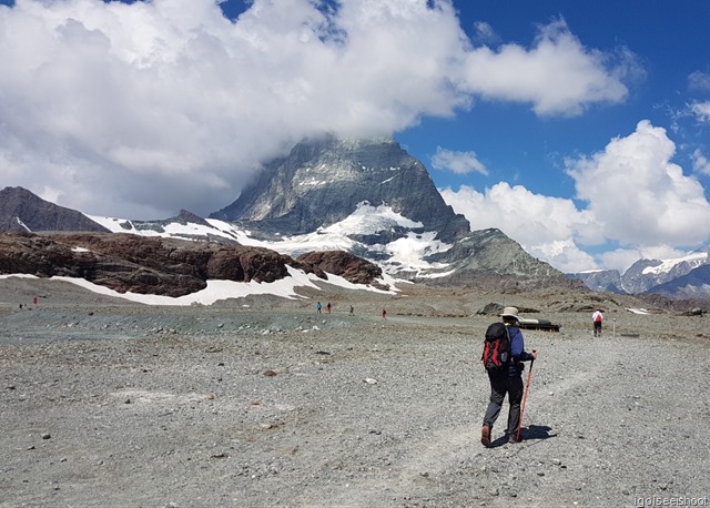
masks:
<svg viewBox="0 0 710 508"><path fill-rule="evenodd" d="M158 221L85 215L22 187L6 187L0 231L131 233L265 247L293 257L345 251L393 277L430 285L521 291L557 285L710 298L710 248L678 260L639 260L623 274L562 274L499 230L470 231L424 164L392 139L303 141L264 164L252 185L207 217L187 211Z"/></svg>

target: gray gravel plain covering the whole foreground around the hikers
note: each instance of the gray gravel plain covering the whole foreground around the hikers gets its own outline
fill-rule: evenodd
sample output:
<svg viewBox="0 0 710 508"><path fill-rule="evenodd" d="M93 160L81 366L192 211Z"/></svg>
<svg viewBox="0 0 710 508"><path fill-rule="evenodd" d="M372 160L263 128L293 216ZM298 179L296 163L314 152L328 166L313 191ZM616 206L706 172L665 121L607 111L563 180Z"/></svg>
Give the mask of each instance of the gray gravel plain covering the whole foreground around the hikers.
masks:
<svg viewBox="0 0 710 508"><path fill-rule="evenodd" d="M707 505L707 316L556 292L304 296L148 307L0 281L0 506ZM489 303L562 328L525 332L526 440L486 449Z"/></svg>

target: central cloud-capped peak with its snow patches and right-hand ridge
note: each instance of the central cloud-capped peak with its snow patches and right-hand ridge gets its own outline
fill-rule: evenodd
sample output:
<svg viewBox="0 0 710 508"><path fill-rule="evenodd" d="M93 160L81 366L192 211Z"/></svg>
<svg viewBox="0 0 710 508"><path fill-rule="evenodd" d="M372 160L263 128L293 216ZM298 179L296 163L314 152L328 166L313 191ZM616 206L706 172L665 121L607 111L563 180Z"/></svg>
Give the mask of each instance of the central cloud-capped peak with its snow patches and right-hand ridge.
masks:
<svg viewBox="0 0 710 508"><path fill-rule="evenodd" d="M444 202L424 164L392 139L298 143L265 164L257 181L210 219L270 240L278 252L333 237L390 275L416 282L575 285L499 230L471 232Z"/></svg>

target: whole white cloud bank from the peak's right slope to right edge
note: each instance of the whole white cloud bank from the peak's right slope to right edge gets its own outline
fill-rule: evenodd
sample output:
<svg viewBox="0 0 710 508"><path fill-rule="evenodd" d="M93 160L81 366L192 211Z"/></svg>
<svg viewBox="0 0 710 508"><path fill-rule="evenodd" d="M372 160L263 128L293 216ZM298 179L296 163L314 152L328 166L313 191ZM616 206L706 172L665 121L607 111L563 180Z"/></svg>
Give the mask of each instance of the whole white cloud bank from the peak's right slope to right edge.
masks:
<svg viewBox="0 0 710 508"><path fill-rule="evenodd" d="M710 203L698 180L671 161L674 151L666 130L643 120L602 151L567 161L581 209L506 182L484 192L445 189L442 195L474 230L498 227L558 270L623 272L640 257L678 256L710 236ZM581 250L606 242L620 247L597 258Z"/></svg>

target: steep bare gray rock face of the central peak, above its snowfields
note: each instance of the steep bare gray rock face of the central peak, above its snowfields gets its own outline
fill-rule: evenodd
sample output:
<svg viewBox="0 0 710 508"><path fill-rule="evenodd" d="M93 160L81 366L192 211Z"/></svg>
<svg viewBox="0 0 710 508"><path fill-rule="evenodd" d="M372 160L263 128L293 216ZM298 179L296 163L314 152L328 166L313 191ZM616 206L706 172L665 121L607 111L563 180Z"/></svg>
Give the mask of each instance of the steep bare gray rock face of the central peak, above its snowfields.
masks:
<svg viewBox="0 0 710 508"><path fill-rule="evenodd" d="M470 231L468 221L444 202L426 167L390 139L328 136L300 143L210 217L264 235L302 235L345 220L362 203L388 206L416 223L409 231L435 231L443 242ZM388 240L406 234L395 228Z"/></svg>

